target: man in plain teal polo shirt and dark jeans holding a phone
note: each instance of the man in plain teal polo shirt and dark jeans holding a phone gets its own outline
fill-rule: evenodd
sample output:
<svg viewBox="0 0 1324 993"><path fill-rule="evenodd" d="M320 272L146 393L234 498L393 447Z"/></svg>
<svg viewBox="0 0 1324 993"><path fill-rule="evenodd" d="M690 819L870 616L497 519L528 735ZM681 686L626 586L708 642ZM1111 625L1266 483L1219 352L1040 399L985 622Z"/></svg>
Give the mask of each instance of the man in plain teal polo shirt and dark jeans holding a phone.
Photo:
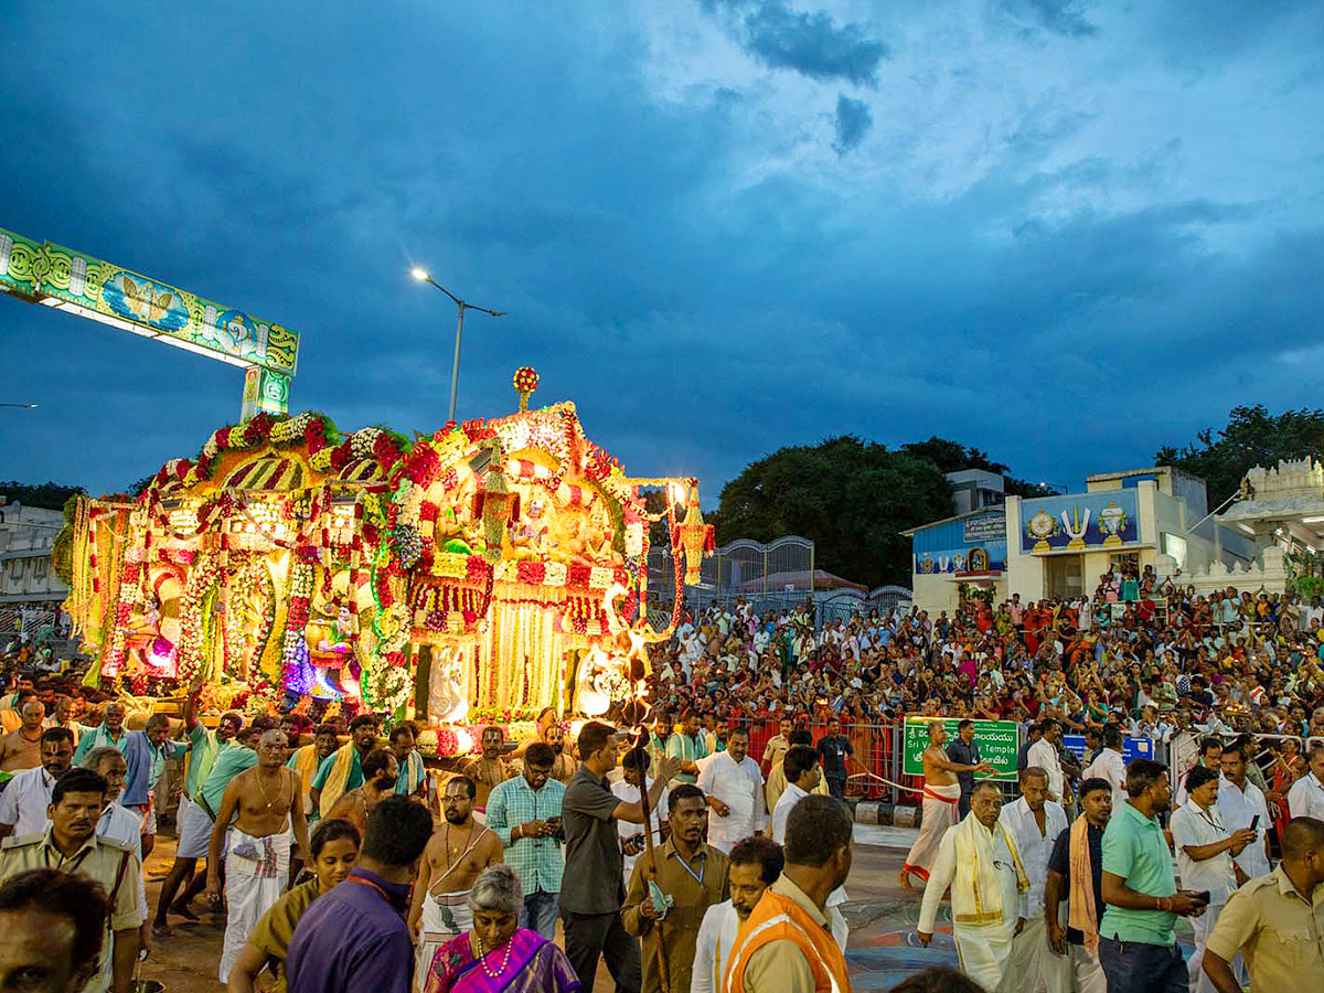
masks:
<svg viewBox="0 0 1324 993"><path fill-rule="evenodd" d="M1177 890L1172 851L1158 814L1172 806L1168 769L1148 759L1127 767L1131 797L1103 833L1103 902L1099 964L1108 989L1185 993L1186 964L1173 935L1178 916L1200 916L1205 903Z"/></svg>

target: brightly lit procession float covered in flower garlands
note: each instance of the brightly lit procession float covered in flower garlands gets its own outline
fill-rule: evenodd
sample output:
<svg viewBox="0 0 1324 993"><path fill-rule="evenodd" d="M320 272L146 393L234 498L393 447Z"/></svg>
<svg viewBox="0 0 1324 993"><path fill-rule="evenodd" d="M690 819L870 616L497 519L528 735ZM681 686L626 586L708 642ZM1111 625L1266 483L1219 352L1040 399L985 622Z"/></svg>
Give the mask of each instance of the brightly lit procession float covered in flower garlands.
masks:
<svg viewBox="0 0 1324 993"><path fill-rule="evenodd" d="M66 610L89 679L143 695L201 678L253 708L308 698L434 726L630 696L711 551L696 482L626 477L573 404L526 409L532 369L515 387L518 413L413 440L258 414L135 499L82 499ZM645 506L654 489L665 510ZM655 628L657 520L677 588Z"/></svg>

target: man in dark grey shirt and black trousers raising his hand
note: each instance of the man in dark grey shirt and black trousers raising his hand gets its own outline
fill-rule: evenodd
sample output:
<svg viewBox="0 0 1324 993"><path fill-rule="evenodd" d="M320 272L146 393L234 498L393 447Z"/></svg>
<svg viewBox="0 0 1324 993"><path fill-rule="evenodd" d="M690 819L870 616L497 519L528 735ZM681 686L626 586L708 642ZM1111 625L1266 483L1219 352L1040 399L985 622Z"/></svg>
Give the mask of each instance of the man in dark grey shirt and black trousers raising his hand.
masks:
<svg viewBox="0 0 1324 993"><path fill-rule="evenodd" d="M588 722L579 733L581 765L565 786L561 825L565 830L565 878L560 910L565 956L585 988L592 989L597 961L616 980L618 993L639 993L639 944L621 924L625 878L617 821L643 824L643 804L626 804L612 792L606 773L616 768L617 733L610 724ZM681 760L663 756L649 784L649 810L657 806Z"/></svg>

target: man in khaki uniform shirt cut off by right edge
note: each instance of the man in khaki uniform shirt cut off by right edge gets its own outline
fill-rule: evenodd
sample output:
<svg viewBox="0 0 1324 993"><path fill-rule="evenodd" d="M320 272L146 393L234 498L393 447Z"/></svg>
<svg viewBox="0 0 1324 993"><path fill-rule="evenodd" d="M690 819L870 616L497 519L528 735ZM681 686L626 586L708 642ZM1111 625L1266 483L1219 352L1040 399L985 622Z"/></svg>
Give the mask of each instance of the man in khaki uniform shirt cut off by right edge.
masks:
<svg viewBox="0 0 1324 993"><path fill-rule="evenodd" d="M1241 993L1229 967L1238 952L1251 989L1324 989L1324 821L1291 821L1283 863L1227 900L1205 943L1205 974L1219 993Z"/></svg>

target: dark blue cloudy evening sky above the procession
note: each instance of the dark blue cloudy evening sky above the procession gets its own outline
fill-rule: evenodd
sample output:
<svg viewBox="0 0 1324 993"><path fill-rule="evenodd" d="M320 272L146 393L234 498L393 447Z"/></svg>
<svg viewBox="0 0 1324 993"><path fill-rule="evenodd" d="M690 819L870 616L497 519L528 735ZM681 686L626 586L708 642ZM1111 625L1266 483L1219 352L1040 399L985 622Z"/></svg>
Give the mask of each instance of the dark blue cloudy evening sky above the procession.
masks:
<svg viewBox="0 0 1324 993"><path fill-rule="evenodd" d="M205 9L203 9L205 8ZM1320 402L1313 0L7 0L0 226L303 332L294 409L572 399L632 474L854 432L1031 479ZM111 490L241 373L0 298L0 478Z"/></svg>

